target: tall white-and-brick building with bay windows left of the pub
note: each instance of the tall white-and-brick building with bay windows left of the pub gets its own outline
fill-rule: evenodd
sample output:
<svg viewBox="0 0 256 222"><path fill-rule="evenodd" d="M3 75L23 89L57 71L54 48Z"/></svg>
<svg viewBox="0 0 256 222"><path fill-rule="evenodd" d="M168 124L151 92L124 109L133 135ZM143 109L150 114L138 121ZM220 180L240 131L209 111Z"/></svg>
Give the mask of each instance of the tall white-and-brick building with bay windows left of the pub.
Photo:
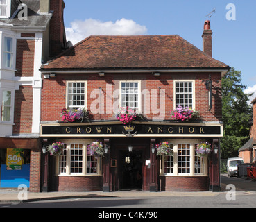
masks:
<svg viewBox="0 0 256 222"><path fill-rule="evenodd" d="M0 1L0 188L40 191L44 61L67 49L62 0Z"/></svg>

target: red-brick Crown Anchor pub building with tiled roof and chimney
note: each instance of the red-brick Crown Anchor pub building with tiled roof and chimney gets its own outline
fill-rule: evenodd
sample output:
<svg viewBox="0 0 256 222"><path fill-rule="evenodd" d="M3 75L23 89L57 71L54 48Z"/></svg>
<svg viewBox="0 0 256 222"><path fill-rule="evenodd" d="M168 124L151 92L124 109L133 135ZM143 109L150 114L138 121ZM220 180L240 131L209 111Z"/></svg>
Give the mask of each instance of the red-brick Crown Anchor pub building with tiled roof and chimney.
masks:
<svg viewBox="0 0 256 222"><path fill-rule="evenodd" d="M210 21L202 37L203 51L179 35L90 36L42 65L40 137L45 147L64 144L46 154L46 189L219 191L221 78L230 67L212 58ZM173 119L178 106L200 118ZM116 118L121 107L137 110L132 128ZM96 141L103 157L88 150ZM201 142L214 148L208 157L196 154ZM172 155L157 155L167 143Z"/></svg>

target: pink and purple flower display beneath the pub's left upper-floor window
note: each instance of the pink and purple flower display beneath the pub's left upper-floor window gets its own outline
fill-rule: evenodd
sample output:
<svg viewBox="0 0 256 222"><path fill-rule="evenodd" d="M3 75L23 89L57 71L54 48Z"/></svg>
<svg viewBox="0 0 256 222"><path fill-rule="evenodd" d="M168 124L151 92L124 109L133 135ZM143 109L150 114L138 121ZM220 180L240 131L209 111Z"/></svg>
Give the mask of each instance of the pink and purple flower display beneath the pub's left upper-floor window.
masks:
<svg viewBox="0 0 256 222"><path fill-rule="evenodd" d="M83 122L84 120L89 121L89 110L85 108L67 110L62 109L61 111L62 121L65 123L73 123L76 121Z"/></svg>

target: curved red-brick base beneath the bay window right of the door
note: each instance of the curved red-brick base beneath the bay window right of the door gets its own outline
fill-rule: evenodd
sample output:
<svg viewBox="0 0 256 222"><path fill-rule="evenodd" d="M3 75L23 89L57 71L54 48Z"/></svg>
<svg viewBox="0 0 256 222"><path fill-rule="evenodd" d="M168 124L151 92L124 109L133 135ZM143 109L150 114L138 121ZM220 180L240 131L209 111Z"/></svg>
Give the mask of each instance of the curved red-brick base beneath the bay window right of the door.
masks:
<svg viewBox="0 0 256 222"><path fill-rule="evenodd" d="M160 176L162 191L208 191L208 176Z"/></svg>

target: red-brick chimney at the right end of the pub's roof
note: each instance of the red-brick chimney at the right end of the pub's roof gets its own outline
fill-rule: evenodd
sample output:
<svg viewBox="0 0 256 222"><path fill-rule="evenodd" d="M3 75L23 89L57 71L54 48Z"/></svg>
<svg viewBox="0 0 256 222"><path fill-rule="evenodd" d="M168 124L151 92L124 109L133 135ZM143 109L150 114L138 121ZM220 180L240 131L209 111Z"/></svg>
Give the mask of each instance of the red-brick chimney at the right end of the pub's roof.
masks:
<svg viewBox="0 0 256 222"><path fill-rule="evenodd" d="M206 20L203 26L203 52L212 57L212 30L210 20Z"/></svg>

